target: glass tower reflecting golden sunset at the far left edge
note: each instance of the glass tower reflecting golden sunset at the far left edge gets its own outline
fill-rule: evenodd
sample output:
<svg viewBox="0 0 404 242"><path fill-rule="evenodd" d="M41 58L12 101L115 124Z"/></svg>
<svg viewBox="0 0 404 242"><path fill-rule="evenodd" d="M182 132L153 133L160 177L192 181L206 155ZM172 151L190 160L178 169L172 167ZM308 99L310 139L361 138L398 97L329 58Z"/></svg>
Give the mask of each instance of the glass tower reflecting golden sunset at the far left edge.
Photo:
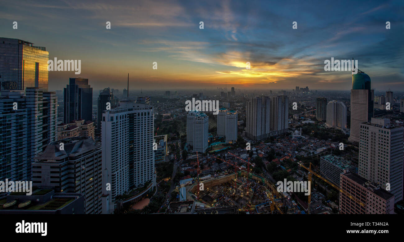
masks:
<svg viewBox="0 0 404 242"><path fill-rule="evenodd" d="M1 90L39 87L48 91L49 52L45 47L11 38L0 38Z"/></svg>

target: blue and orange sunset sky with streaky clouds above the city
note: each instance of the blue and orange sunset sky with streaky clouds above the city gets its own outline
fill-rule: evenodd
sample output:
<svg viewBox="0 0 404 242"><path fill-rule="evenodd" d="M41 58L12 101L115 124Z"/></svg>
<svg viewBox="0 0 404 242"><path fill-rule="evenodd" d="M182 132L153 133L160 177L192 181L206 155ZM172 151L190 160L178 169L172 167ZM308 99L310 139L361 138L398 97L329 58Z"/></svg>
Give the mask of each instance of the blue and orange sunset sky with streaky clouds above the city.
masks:
<svg viewBox="0 0 404 242"><path fill-rule="evenodd" d="M376 90L404 90L403 16L402 0L19 0L0 2L0 37L45 46L49 59L81 60L78 75L49 72L49 90L69 77L123 89L128 73L143 90L350 90L350 71L324 71L332 57L358 60Z"/></svg>

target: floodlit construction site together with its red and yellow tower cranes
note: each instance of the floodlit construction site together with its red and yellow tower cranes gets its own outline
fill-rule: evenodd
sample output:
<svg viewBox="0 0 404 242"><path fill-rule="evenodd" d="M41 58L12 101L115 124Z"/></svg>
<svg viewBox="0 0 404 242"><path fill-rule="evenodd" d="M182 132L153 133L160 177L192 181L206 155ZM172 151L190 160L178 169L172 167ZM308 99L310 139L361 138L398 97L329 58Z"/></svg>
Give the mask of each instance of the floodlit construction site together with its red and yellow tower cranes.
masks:
<svg viewBox="0 0 404 242"><path fill-rule="evenodd" d="M268 179L252 173L252 164L239 156L227 152L233 158L222 159L221 157L214 156L217 160L226 162L234 167L234 173L213 177L208 180L201 181L199 174L199 158L197 154L197 167L198 167L198 180L197 182L189 185L183 185L181 188L181 197L183 200L193 200L200 204L200 209L203 208L225 208L237 207L240 213L255 213L255 214L310 214L313 210L315 213L329 213L328 211L320 211L323 204L311 209L311 193L307 196L307 207L301 207L302 201L299 203L292 200L291 194L287 192L278 192L276 187ZM229 156L227 156L229 158ZM303 163L299 162L299 166L308 171L308 180L311 181L312 177L318 177L337 191L345 194L354 202L361 206L364 203L351 196L347 191L334 185L324 177L318 174L315 166L309 163L306 167ZM312 170L316 168L317 170ZM315 195L317 196L317 195ZM294 196L295 199L297 196ZM299 206L300 205L300 206ZM326 207L328 209L328 207ZM321 210L324 210L321 209Z"/></svg>

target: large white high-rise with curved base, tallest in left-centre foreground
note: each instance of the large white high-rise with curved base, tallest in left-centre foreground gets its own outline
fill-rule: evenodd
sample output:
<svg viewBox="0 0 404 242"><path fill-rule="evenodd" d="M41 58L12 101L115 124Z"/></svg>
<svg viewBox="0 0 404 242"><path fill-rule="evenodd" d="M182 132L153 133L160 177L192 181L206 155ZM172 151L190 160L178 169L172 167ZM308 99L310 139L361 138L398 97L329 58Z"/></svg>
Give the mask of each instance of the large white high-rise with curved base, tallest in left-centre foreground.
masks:
<svg viewBox="0 0 404 242"><path fill-rule="evenodd" d="M153 107L136 99L121 100L103 113L101 122L103 213L112 213L116 196L147 182L156 185ZM107 183L110 191L105 190Z"/></svg>

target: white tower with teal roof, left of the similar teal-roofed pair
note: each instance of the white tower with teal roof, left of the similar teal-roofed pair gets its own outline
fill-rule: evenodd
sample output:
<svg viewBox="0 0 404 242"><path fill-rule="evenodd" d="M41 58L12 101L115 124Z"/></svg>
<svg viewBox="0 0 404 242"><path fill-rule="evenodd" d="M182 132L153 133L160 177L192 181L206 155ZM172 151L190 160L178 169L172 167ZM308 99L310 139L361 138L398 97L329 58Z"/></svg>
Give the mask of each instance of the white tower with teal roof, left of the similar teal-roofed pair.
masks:
<svg viewBox="0 0 404 242"><path fill-rule="evenodd" d="M209 116L191 111L187 115L187 143L193 152L204 153L208 149Z"/></svg>

